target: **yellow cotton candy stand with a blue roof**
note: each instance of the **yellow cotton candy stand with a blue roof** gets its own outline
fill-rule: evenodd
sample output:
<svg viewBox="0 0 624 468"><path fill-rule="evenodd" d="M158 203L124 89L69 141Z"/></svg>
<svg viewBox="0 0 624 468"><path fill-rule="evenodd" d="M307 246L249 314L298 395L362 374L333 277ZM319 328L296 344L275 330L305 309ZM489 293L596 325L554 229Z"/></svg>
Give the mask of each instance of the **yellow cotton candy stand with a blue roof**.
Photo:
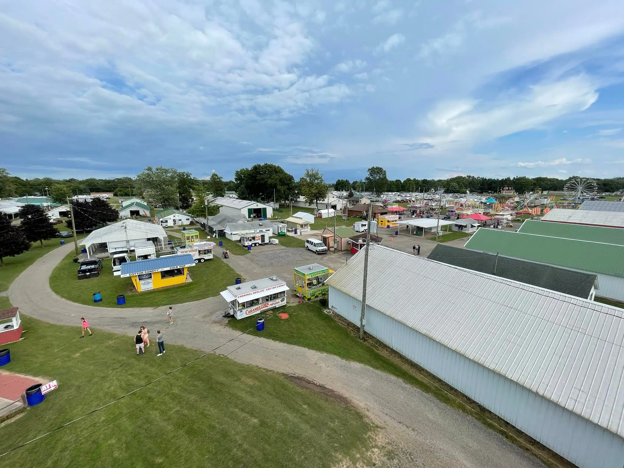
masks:
<svg viewBox="0 0 624 468"><path fill-rule="evenodd" d="M156 290L186 283L189 266L195 266L195 260L188 253L129 261L121 266L121 277L131 278L139 292Z"/></svg>

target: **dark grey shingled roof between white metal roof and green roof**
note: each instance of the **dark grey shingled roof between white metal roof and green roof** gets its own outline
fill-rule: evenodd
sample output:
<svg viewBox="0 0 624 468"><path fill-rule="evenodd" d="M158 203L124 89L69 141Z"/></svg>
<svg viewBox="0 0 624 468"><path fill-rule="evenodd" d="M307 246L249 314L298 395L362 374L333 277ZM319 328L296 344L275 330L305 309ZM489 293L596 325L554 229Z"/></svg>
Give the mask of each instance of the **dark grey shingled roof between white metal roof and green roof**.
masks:
<svg viewBox="0 0 624 468"><path fill-rule="evenodd" d="M434 250L427 255L427 259L583 299L589 297L596 283L595 273L569 270L504 255L496 256L489 252L444 244L436 245Z"/></svg>

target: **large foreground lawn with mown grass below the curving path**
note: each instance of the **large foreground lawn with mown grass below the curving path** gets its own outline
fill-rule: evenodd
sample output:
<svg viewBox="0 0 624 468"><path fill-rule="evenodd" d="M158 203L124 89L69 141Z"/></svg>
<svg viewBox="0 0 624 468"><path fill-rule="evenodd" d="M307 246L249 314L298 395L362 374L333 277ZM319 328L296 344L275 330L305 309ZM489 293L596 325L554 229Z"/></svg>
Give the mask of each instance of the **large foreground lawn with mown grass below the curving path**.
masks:
<svg viewBox="0 0 624 468"><path fill-rule="evenodd" d="M167 344L167 353L157 357L154 340L137 356L132 336L95 329L79 339L79 327L22 321L26 339L11 345L12 361L2 369L43 382L56 379L59 388L0 427L0 453L201 354ZM358 454L372 447L372 433L351 406L299 388L281 374L209 354L11 452L2 466L354 466Z"/></svg>

